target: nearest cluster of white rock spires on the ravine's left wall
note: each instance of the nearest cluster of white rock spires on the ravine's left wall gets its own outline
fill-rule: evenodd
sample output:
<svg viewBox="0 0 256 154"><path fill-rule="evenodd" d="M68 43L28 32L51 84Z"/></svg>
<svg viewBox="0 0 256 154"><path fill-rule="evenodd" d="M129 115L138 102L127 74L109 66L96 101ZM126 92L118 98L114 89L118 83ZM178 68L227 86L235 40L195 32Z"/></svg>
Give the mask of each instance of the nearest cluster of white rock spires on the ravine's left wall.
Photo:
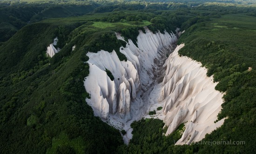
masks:
<svg viewBox="0 0 256 154"><path fill-rule="evenodd" d="M115 114L118 111L117 114L121 119L130 120L130 101L136 97L136 91L140 89L140 79L134 65L129 61L121 62L115 51L112 53L107 51L89 52L87 55L90 74L85 80L85 87L92 96L92 99L87 102L91 102L95 110L98 109L94 113L101 116L101 112L105 112L101 110L100 103L94 103L100 102L101 100L97 96L102 95L110 107L109 113ZM106 69L112 72L115 77L114 81L107 76ZM99 87L96 88L96 85ZM105 119L108 119L108 115L105 116Z"/></svg>

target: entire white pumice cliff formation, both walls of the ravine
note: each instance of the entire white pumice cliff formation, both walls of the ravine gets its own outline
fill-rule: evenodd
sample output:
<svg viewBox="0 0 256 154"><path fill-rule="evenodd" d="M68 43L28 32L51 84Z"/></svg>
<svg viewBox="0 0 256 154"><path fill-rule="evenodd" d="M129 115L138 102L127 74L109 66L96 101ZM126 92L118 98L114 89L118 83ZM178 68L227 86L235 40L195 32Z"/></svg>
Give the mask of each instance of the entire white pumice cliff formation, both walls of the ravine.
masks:
<svg viewBox="0 0 256 154"><path fill-rule="evenodd" d="M216 83L206 76L202 64L178 55L184 45L176 47L173 33L145 30L137 38L138 47L128 40L126 47L120 48L126 62L120 61L115 51L88 52L90 73L84 85L91 98L87 103L94 115L127 131L125 143L132 138L130 124L142 117L151 118L148 112L160 106L163 109L154 118L165 122L166 135L185 123L186 129L176 144L202 140L224 121L214 123L221 110L222 94L214 89ZM118 33L116 36L123 39Z"/></svg>

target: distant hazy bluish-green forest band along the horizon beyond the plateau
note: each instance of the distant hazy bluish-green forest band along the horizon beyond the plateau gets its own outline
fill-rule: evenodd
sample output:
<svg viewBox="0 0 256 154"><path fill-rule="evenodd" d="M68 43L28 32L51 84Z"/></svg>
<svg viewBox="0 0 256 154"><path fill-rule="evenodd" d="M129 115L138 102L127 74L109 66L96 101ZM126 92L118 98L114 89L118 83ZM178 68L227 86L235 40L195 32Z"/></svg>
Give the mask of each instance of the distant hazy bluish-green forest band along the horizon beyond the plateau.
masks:
<svg viewBox="0 0 256 154"><path fill-rule="evenodd" d="M35 1L37 3L33 3L33 0L28 0L28 2L20 2L20 1L2 1L0 3L0 42L7 41L10 39L15 32L17 32L21 27L27 25L28 23L33 23L40 21L42 19L49 18L60 18L60 17L70 17L70 16L80 16L85 13L93 12L93 13L105 13L112 11L127 11L127 10L141 10L154 12L156 10L177 10L182 8L191 9L191 7L196 7L196 9L200 10L212 10L217 15L223 15L226 13L247 13L251 16L256 16L254 7L245 7L245 5L241 5L237 9L237 4L233 3L233 1L229 1L230 3L203 3L204 1L159 1L157 3L152 3L150 0L146 1L131 1L124 3L123 0L120 1L102 1L102 0L85 0L77 2L75 0L67 0L67 1ZM38 3L40 2L40 4ZM49 3L45 3L49 2ZM122 3L121 3L122 2ZM221 1L222 2L222 1ZM225 1L226 2L226 1ZM203 4L202 4L203 3ZM227 7L228 6L228 7ZM187 12L187 10L181 10L181 12ZM180 13L181 13L180 12ZM152 19L151 17L148 17ZM150 21L150 19L147 19ZM113 17L112 19L106 17L106 19L102 19L103 21L112 21L116 22L120 19ZM128 21L136 21L137 23L142 20L142 18L133 18L128 17ZM165 23L170 23L172 20L170 18L164 18ZM168 24L162 24L158 27L161 31L165 27L168 27ZM155 27L152 27L152 30L156 30ZM174 30L174 27L171 28Z"/></svg>

